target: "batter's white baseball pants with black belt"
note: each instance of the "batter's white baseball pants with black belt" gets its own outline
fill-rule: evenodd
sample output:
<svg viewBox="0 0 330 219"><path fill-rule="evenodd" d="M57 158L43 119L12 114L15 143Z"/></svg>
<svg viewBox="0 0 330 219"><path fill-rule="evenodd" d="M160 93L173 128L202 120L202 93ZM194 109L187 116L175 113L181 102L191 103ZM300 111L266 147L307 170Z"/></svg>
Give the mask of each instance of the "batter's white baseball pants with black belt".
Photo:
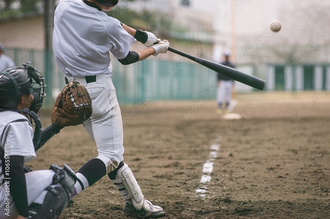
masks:
<svg viewBox="0 0 330 219"><path fill-rule="evenodd" d="M69 78L69 81L73 79L86 87L92 99L93 113L83 127L95 140L98 151L96 158L104 162L108 174L124 159L121 111L112 74L98 74L96 82L88 84L85 77Z"/></svg>

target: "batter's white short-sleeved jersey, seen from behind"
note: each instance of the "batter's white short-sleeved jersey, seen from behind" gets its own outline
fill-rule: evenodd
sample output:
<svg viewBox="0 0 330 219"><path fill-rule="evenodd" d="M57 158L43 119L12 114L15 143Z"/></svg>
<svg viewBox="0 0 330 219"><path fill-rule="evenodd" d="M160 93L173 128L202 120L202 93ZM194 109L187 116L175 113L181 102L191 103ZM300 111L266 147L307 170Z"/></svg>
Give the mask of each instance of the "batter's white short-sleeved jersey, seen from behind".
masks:
<svg viewBox="0 0 330 219"><path fill-rule="evenodd" d="M124 59L134 42L117 19L82 0L61 0L56 7L53 51L68 77L111 73L109 51Z"/></svg>

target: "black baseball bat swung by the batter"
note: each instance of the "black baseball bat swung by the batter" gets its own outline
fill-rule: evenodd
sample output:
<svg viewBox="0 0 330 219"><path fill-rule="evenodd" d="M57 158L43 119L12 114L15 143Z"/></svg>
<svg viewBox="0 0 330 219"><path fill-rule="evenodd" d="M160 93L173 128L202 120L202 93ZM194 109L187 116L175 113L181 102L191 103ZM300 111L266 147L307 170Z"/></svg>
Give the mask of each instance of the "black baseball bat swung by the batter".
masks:
<svg viewBox="0 0 330 219"><path fill-rule="evenodd" d="M176 53L176 54L178 54L180 56L183 56L185 58L188 58L188 59L190 59L194 62L197 62L198 64L201 64L202 66L210 68L211 70L214 70L214 71L216 71L216 72L218 72L218 73L220 73L224 76L227 76L231 79L234 79L235 81L239 81L243 84L246 84L248 86L257 88L259 90L264 89L266 81L262 80L258 77L255 77L253 75L243 73L242 71L239 71L235 68L227 67L227 66L224 66L224 65L221 65L221 64L217 64L217 63L205 60L205 59L201 59L201 58L186 54L186 53L181 52L179 50L176 50L172 47L169 47L168 51Z"/></svg>

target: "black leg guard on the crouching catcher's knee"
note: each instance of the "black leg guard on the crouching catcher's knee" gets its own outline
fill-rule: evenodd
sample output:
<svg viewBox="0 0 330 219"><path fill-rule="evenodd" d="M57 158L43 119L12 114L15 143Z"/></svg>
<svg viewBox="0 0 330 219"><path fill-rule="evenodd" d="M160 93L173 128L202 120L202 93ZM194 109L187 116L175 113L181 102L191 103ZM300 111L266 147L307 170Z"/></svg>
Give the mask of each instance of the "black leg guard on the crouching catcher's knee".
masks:
<svg viewBox="0 0 330 219"><path fill-rule="evenodd" d="M52 184L29 206L30 219L58 218L70 200L77 180L75 172L66 164L64 164L64 169L55 164L52 164L49 169L55 172Z"/></svg>

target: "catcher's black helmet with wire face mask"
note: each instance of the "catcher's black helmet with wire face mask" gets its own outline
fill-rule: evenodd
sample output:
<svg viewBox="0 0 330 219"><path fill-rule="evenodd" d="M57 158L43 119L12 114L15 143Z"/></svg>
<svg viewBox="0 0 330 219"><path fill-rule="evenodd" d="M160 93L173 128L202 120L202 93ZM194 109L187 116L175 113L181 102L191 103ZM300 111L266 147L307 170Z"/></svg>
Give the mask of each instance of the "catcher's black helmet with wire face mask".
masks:
<svg viewBox="0 0 330 219"><path fill-rule="evenodd" d="M10 67L0 71L0 107L16 109L21 95L32 94L30 110L38 112L45 94L44 77L29 65Z"/></svg>

